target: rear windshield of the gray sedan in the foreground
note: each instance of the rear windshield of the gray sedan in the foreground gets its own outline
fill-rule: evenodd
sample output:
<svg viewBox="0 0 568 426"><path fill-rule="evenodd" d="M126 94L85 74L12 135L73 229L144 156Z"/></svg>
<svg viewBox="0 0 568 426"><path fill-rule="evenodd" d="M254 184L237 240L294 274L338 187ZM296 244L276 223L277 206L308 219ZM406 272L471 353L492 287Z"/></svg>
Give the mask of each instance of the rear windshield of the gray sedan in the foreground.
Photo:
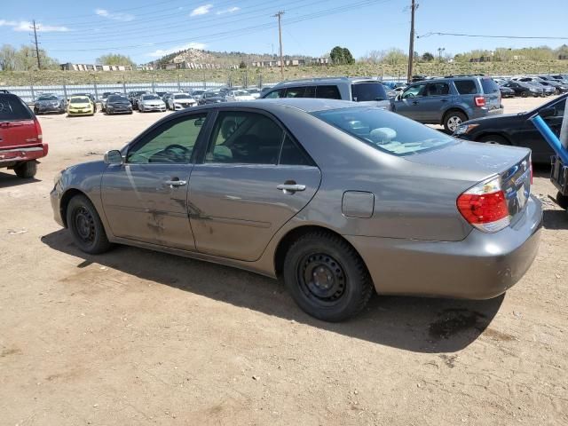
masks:
<svg viewBox="0 0 568 426"><path fill-rule="evenodd" d="M378 107L351 107L312 114L379 151L397 156L423 153L456 142L438 130Z"/></svg>

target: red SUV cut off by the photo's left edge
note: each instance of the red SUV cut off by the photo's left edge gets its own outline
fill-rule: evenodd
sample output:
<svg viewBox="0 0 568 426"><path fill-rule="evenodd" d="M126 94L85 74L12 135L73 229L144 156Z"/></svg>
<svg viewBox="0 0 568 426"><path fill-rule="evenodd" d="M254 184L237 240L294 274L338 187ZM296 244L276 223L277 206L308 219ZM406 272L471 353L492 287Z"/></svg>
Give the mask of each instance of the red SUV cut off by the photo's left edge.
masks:
<svg viewBox="0 0 568 426"><path fill-rule="evenodd" d="M37 159L47 155L36 115L16 95L0 93L0 169L18 177L34 177Z"/></svg>

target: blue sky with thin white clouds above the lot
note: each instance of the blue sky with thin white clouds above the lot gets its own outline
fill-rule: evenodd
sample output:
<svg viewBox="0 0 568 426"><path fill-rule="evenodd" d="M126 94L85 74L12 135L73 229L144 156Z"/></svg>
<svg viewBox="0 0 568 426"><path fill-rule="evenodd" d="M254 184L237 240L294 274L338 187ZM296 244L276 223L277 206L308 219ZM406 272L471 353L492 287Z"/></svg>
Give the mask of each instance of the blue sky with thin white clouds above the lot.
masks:
<svg viewBox="0 0 568 426"><path fill-rule="evenodd" d="M421 0L416 35L432 32L497 36L565 37L563 8L540 9L528 0ZM0 44L30 43L31 20L40 42L62 62L92 63L120 52L138 63L186 47L211 51L278 52L277 20L284 11L286 54L319 56L335 45L359 58L367 51L407 50L410 0L4 0ZM556 12L555 12L556 10ZM437 54L568 40L519 40L426 36L415 51Z"/></svg>

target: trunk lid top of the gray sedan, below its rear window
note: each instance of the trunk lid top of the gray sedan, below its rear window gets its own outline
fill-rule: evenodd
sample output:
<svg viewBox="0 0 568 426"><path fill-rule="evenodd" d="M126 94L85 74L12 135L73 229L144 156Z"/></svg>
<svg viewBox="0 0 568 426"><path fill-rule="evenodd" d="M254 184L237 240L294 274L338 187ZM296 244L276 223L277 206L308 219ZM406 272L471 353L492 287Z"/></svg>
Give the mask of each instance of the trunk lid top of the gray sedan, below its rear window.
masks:
<svg viewBox="0 0 568 426"><path fill-rule="evenodd" d="M409 162L445 170L462 170L464 175L481 181L507 170L523 159L530 150L517 146L483 144L456 139L450 146L424 154L404 157Z"/></svg>

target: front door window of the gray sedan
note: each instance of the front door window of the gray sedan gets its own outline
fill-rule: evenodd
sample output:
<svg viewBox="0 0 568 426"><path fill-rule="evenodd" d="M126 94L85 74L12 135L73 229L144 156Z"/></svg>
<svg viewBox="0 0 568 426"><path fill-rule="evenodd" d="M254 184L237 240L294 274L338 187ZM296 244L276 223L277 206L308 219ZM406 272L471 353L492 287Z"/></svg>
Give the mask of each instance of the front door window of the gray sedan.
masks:
<svg viewBox="0 0 568 426"><path fill-rule="evenodd" d="M162 124L129 150L126 162L191 162L193 146L199 138L206 117L205 113L195 114Z"/></svg>

